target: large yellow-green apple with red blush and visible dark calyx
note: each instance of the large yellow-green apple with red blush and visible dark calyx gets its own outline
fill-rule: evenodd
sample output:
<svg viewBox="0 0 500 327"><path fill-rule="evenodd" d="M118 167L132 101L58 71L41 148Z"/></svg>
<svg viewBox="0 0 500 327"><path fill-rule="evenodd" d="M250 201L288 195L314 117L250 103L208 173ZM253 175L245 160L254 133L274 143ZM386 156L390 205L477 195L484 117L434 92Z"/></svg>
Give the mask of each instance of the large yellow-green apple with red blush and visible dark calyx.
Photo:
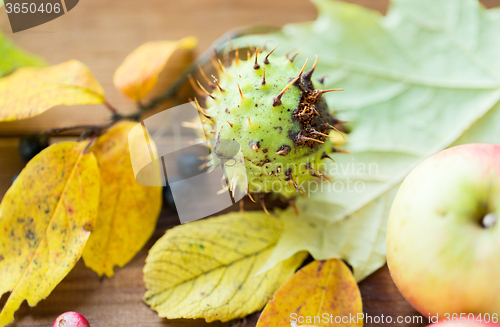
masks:
<svg viewBox="0 0 500 327"><path fill-rule="evenodd" d="M500 145L444 150L404 180L389 214L387 263L424 316L500 316L500 221L483 227L487 214L500 217Z"/></svg>

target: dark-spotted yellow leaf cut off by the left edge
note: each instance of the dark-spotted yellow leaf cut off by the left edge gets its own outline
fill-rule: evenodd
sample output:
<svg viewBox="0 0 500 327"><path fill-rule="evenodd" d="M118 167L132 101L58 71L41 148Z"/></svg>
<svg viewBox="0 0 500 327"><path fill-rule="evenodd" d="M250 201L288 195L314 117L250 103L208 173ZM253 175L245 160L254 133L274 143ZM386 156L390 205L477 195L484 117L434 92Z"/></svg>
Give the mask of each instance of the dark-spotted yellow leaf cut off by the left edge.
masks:
<svg viewBox="0 0 500 327"><path fill-rule="evenodd" d="M46 298L80 259L99 204L99 168L85 143L48 147L23 169L0 204L0 326L26 299Z"/></svg>

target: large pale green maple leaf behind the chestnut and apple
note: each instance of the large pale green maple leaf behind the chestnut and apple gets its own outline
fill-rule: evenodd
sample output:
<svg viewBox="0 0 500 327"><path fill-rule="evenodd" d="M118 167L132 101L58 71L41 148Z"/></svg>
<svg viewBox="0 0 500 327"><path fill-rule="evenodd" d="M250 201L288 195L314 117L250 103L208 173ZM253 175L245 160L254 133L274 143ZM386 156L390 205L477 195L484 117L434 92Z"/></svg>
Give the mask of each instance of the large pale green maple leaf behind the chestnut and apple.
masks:
<svg viewBox="0 0 500 327"><path fill-rule="evenodd" d="M347 143L352 156L338 154L328 167L337 187L299 200L302 219L314 226L306 232L285 215L284 234L266 267L308 250L316 259L351 260L360 280L383 265L378 253L385 241L364 242L359 228L371 224L385 232L379 220L387 212L380 208L390 206L418 163L451 145L500 143L500 10L475 0L393 0L382 17L343 2L313 2L316 21L236 41L262 46L269 40L268 47L280 43L282 53L300 48L299 63L317 54L315 75L327 74L324 88L345 89L327 96L329 106L354 120ZM358 189L348 191L356 182ZM342 251L330 246L341 233L353 235ZM377 255L361 260L346 250L351 247Z"/></svg>

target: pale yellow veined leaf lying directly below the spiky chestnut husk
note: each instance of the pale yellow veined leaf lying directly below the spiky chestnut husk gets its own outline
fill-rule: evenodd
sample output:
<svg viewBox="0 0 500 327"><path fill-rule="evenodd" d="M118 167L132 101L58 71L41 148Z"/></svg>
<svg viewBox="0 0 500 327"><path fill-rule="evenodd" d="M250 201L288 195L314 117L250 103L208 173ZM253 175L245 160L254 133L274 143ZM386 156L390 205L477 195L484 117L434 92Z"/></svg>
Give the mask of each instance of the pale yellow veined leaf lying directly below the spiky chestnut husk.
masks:
<svg viewBox="0 0 500 327"><path fill-rule="evenodd" d="M160 317L228 321L262 309L305 259L298 253L259 275L282 231L261 211L229 213L175 227L144 267L144 301Z"/></svg>

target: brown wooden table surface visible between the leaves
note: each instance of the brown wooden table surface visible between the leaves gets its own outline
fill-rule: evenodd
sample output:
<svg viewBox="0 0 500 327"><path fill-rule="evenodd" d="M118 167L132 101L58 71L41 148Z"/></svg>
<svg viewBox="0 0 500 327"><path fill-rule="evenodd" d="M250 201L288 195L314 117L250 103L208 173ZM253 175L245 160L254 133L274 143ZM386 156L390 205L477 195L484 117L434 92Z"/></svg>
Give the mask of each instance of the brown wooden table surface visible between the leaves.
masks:
<svg viewBox="0 0 500 327"><path fill-rule="evenodd" d="M381 13L386 0L350 0ZM487 7L500 0L482 1ZM88 65L103 85L108 100L123 112L134 109L112 85L114 70L134 48L147 41L180 39L194 35L199 39L198 53L229 29L265 24L313 20L316 10L307 0L82 0L68 14L36 28L12 34L5 10L0 9L0 29L19 46L42 56L50 63L79 59ZM0 197L12 176L24 165L17 154L18 136L34 131L75 124L101 123L108 112L102 106L54 108L38 117L19 122L0 123ZM164 208L158 228L148 245L111 279L100 280L79 262L54 292L37 307L26 303L16 313L13 326L52 326L65 311L78 311L96 326L205 326L203 321L167 321L142 303L145 288L142 267L147 250L174 224L175 212ZM1 277L0 277L1 278ZM360 284L364 311L371 316L418 317L392 283L383 267ZM3 305L7 296L0 299ZM211 326L254 326L258 314L245 321ZM414 318L417 319L417 318ZM386 324L422 326L416 323ZM367 324L384 325L384 324Z"/></svg>

